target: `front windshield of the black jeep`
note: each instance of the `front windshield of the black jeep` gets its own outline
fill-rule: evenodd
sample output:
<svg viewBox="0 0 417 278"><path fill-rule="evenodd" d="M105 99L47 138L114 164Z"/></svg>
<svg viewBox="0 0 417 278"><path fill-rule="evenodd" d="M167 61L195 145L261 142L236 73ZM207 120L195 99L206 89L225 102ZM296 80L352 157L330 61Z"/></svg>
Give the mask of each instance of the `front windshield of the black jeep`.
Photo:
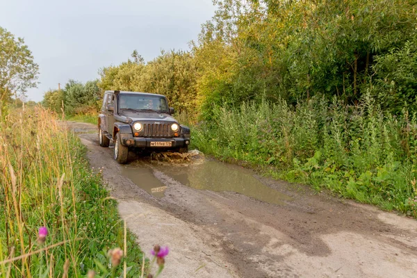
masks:
<svg viewBox="0 0 417 278"><path fill-rule="evenodd" d="M120 95L119 109L153 110L168 113L165 97L157 95Z"/></svg>

